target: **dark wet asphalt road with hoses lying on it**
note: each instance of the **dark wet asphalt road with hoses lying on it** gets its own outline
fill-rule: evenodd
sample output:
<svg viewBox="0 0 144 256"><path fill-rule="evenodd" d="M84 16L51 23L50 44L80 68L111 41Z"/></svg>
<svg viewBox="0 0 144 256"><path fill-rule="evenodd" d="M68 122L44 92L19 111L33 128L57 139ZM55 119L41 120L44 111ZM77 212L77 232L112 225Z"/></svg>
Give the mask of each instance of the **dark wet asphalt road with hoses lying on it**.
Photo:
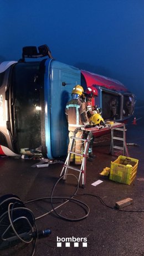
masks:
<svg viewBox="0 0 144 256"><path fill-rule="evenodd" d="M132 120L126 126L126 142L131 158L139 160L137 176L131 185L109 180L109 177L100 176L103 168L110 167L111 161L117 156L109 155L110 135L95 140L94 153L97 156L93 162L87 162L86 186L79 188L75 199L79 199L89 206L68 202L56 211L69 219L81 221L65 221L54 212L42 217L52 210L49 197L59 179L62 163L50 164L49 167L32 167L38 160L23 160L21 158L0 158L0 195L16 194L24 206L32 210L38 230L52 230L49 237L38 240L36 256L142 256L144 255L144 108L136 110L136 125ZM76 174L73 172L73 174ZM140 180L139 180L140 179ZM102 182L97 186L91 184L97 180ZM68 176L65 182L60 181L55 187L53 196L70 197L74 194L77 180ZM41 199L32 203L25 203L29 199ZM130 206L114 209L115 203L125 198L132 198ZM62 199L53 199L54 207L65 202ZM84 219L83 219L84 218ZM1 232L2 226L0 226ZM66 240L67 239L67 240ZM62 240L62 242L61 242ZM70 242L72 240L72 242ZM61 242L61 247L58 247ZM65 244L70 242L70 244ZM84 242L84 243L83 243ZM66 245L69 247L66 247ZM1 249L1 242L0 242ZM16 243L11 248L0 250L0 255L29 256L32 253L33 243Z"/></svg>

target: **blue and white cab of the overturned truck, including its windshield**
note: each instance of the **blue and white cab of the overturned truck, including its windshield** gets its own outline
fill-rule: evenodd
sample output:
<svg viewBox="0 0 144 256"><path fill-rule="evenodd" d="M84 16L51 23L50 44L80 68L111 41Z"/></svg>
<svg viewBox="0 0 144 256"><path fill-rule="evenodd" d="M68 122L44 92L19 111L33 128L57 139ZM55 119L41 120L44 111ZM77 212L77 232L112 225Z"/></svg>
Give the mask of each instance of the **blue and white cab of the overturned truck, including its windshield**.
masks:
<svg viewBox="0 0 144 256"><path fill-rule="evenodd" d="M38 149L50 159L64 156L68 146L65 105L73 87L80 84L80 70L53 58L25 62L24 57L40 55L33 48L26 50L19 62L0 65L0 153Z"/></svg>

